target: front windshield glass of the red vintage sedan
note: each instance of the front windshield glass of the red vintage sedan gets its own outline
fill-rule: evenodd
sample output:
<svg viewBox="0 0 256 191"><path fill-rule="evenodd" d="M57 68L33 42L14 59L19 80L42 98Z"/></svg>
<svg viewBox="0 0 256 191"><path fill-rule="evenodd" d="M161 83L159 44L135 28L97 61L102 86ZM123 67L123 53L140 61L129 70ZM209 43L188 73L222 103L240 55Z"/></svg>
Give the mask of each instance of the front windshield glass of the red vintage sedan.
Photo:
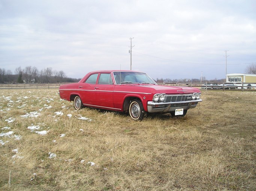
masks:
<svg viewBox="0 0 256 191"><path fill-rule="evenodd" d="M141 72L113 72L117 84L156 84L147 74Z"/></svg>

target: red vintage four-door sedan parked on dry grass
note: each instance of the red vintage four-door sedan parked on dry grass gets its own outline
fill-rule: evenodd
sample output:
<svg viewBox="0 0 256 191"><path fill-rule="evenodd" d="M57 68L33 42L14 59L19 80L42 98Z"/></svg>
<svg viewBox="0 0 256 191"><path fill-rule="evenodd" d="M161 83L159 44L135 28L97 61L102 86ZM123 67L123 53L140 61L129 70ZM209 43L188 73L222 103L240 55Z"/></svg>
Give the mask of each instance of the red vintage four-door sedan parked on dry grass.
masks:
<svg viewBox="0 0 256 191"><path fill-rule="evenodd" d="M60 97L74 101L76 110L84 106L128 112L142 120L145 112L185 116L200 99L198 88L157 85L146 73L135 71L95 71L78 83L60 85Z"/></svg>

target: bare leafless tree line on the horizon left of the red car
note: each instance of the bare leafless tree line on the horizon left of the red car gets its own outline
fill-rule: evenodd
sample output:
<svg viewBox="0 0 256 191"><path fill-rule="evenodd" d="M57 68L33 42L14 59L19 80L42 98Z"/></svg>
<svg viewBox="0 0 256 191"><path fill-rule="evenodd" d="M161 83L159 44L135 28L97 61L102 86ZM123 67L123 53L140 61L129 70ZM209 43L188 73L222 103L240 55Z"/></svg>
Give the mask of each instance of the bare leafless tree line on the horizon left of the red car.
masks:
<svg viewBox="0 0 256 191"><path fill-rule="evenodd" d="M53 70L51 67L38 70L35 66L19 66L13 74L10 70L0 68L0 83L61 83L61 82L78 82L79 79L68 78L66 74L60 70Z"/></svg>

